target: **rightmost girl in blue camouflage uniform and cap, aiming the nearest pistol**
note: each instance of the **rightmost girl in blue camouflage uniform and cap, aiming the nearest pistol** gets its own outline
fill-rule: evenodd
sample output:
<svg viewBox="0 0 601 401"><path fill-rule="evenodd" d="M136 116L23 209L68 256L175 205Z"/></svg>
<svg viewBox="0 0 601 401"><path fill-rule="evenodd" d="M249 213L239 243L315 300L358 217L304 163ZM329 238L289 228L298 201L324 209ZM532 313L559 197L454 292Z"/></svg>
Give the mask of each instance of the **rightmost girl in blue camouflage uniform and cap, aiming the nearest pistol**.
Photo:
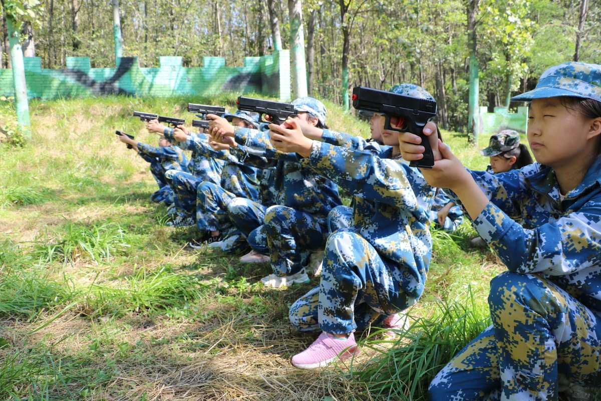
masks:
<svg viewBox="0 0 601 401"><path fill-rule="evenodd" d="M566 384L601 378L601 66L552 67L512 100L532 102L537 163L469 171L431 141L437 161L423 171L451 189L508 269L490 283L492 326L436 375L434 400L557 400ZM400 141L404 159L421 158L418 136Z"/></svg>

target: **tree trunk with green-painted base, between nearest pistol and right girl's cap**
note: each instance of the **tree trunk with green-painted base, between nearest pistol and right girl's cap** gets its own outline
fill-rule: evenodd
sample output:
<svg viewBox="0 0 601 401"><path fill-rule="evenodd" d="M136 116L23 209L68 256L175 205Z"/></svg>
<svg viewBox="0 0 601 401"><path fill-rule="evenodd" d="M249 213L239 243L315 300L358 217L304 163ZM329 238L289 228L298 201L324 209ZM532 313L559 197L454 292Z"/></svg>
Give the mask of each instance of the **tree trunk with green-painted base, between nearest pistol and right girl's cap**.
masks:
<svg viewBox="0 0 601 401"><path fill-rule="evenodd" d="M468 50L469 50L469 101L468 101L468 138L469 141L477 145L478 135L480 134L480 113L478 105L479 78L478 78L478 59L476 58L477 36L476 36L476 16L480 0L468 0ZM470 135L471 134L471 135Z"/></svg>

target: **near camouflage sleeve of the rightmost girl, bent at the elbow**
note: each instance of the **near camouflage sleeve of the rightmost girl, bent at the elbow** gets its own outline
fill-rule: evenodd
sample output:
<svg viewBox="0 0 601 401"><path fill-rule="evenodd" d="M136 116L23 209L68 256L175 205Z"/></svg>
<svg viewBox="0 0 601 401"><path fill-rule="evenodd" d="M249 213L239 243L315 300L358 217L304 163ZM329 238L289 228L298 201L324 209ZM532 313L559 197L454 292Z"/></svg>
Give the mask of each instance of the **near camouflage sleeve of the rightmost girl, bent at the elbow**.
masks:
<svg viewBox="0 0 601 401"><path fill-rule="evenodd" d="M566 275L601 262L601 196L578 212L532 230L489 203L474 227L513 272Z"/></svg>

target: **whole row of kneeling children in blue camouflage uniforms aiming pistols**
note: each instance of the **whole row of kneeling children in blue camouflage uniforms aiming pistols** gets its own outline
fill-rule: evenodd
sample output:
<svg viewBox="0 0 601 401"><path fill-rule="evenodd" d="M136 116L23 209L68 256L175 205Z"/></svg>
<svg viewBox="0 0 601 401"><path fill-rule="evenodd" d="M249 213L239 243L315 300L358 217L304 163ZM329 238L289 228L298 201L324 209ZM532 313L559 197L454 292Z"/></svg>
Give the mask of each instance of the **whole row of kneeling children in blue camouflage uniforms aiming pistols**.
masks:
<svg viewBox="0 0 601 401"><path fill-rule="evenodd" d="M432 99L412 84L390 91ZM551 67L513 100L531 102L536 162L504 130L483 150L487 171L463 167L433 122L423 133L434 167L410 167L423 158L419 136L385 130L379 113L368 140L337 132L311 97L294 100L299 113L280 125L237 111L209 115L207 133L150 121L159 148L120 139L151 162L153 200L172 204L171 224L197 224L190 246L250 249L241 261L270 263L270 287L306 283L321 262L319 285L289 312L299 331L321 332L291 360L305 369L355 354L355 332L370 325L403 325L426 288L430 226L452 231L465 215L473 242L507 272L491 281L492 326L436 375L432 399L551 400L566 383L601 378L601 66Z"/></svg>

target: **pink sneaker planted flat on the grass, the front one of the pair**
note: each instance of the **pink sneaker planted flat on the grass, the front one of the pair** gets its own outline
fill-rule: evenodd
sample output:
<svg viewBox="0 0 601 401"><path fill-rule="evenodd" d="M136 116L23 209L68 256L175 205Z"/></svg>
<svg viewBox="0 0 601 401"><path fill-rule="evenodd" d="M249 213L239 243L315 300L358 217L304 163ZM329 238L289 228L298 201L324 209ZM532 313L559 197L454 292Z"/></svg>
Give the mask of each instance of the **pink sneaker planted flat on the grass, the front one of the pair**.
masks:
<svg viewBox="0 0 601 401"><path fill-rule="evenodd" d="M292 364L301 369L324 367L338 358L341 352L343 352L340 355L341 360L352 357L352 355L359 352L359 347L355 341L355 333L350 333L347 338L336 338L332 334L322 332L317 340L313 341L313 344L301 354L292 357Z"/></svg>

